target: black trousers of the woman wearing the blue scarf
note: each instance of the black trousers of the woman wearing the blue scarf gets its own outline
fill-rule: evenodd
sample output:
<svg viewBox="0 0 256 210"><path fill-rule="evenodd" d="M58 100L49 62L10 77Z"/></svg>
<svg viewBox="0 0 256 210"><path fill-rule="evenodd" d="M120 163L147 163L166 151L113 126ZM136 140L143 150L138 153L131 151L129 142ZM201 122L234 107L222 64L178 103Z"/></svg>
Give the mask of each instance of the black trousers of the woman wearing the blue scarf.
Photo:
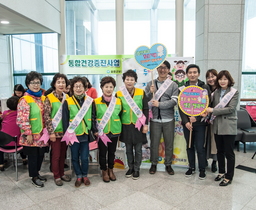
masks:
<svg viewBox="0 0 256 210"><path fill-rule="evenodd" d="M37 147L34 148L38 150ZM37 177L42 166L44 154L36 152L35 154L28 155L28 172L30 177Z"/></svg>

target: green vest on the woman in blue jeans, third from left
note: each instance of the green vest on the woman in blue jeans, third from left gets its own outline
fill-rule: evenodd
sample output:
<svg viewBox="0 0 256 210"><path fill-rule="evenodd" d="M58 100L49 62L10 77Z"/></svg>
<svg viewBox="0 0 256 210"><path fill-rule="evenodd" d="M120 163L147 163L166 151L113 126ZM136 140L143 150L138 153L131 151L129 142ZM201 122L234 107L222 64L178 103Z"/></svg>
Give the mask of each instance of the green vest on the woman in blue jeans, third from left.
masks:
<svg viewBox="0 0 256 210"><path fill-rule="evenodd" d="M74 102L74 100L76 103ZM86 100L86 98L84 100ZM69 109L69 121L72 122L81 107L79 106L79 103L77 102L74 96L69 97L68 99L66 99L66 101L68 103L68 109ZM84 121L86 122L87 126L85 125ZM84 120L82 120L80 124L76 127L75 133L77 136L81 136L84 133L88 134L88 130L91 130L91 127L92 127L92 105L90 105L88 111L84 115Z"/></svg>

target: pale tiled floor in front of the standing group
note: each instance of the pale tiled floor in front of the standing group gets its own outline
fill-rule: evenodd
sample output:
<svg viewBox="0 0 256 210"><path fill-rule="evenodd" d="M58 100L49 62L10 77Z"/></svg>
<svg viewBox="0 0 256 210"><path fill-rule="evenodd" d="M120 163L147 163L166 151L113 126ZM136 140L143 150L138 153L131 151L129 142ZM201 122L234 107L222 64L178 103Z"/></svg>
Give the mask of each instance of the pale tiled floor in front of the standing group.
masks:
<svg viewBox="0 0 256 210"><path fill-rule="evenodd" d="M256 144L247 153L236 152L236 165L256 168ZM211 160L209 161L211 163ZM213 181L217 173L207 168L205 180L198 173L185 178L186 168L174 167L175 175L157 172L150 175L141 169L139 180L125 178L125 170L116 170L117 181L104 183L98 174L90 175L91 186L74 187L75 178L62 187L54 184L49 163L44 162L42 175L48 181L44 188L35 188L26 168L19 166L19 181L13 167L0 172L0 209L243 209L256 210L256 174L236 169L232 185L219 187ZM91 172L95 172L91 170ZM67 171L71 173L71 171Z"/></svg>

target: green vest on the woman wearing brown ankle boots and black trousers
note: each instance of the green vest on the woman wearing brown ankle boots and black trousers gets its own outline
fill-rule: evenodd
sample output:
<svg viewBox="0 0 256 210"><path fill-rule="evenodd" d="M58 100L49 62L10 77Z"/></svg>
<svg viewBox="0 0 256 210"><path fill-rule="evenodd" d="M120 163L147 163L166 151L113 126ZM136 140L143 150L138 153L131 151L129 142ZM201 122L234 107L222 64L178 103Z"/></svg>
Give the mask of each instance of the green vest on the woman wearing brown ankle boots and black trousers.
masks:
<svg viewBox="0 0 256 210"><path fill-rule="evenodd" d="M100 121L101 121L103 115L105 114L108 106L107 106L107 104L102 102L102 97L94 99L94 102L95 102L95 106L96 106L97 121L98 121L98 123L100 123ZM114 109L108 123L106 124L106 126L104 128L104 133L105 134L108 134L110 132L112 134L121 133L122 124L121 124L120 117L119 117L120 112L121 112L121 100L119 98L117 98L115 109Z"/></svg>

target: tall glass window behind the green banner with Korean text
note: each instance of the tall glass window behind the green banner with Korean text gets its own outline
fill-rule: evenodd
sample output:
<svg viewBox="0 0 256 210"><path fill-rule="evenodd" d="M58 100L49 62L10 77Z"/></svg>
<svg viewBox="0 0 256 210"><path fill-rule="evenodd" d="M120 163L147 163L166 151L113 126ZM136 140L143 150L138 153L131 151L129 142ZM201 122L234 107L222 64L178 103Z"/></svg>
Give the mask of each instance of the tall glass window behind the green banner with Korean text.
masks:
<svg viewBox="0 0 256 210"><path fill-rule="evenodd" d="M66 1L68 55L115 55L115 0ZM68 75L73 78L76 75ZM86 76L101 93L103 75Z"/></svg>

